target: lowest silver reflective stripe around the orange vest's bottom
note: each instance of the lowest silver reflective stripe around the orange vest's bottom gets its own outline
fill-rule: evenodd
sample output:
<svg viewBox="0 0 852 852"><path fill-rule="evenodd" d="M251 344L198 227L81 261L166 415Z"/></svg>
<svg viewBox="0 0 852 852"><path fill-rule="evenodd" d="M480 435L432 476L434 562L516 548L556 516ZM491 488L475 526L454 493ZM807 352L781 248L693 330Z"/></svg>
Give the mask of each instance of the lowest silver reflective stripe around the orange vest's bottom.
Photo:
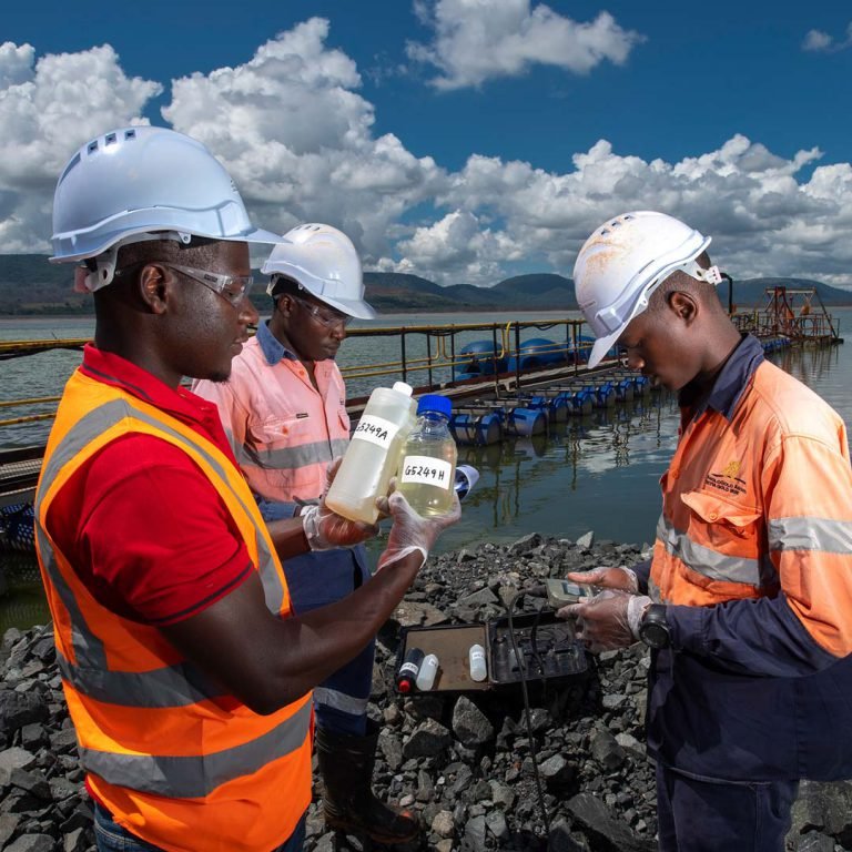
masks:
<svg viewBox="0 0 852 852"><path fill-rule="evenodd" d="M170 799L202 798L227 781L252 774L296 751L305 741L310 721L311 702L305 701L267 733L212 754L120 754L80 748L80 760L88 771L111 784Z"/></svg>

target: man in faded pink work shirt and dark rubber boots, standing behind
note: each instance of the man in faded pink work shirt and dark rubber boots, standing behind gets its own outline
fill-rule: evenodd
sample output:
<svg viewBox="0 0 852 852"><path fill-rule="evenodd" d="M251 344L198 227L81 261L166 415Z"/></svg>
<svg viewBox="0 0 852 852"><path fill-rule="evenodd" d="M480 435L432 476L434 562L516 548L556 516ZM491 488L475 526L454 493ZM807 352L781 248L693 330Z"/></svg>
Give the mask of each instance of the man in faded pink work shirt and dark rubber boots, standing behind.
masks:
<svg viewBox="0 0 852 852"><path fill-rule="evenodd" d="M272 316L234 358L227 382L192 389L219 406L240 467L266 520L292 518L323 493L326 471L349 443L346 388L335 362L364 301L361 260L336 227L297 225L263 265ZM369 580L364 547L304 554L284 564L296 612L334 604ZM375 642L314 690L323 812L331 828L403 843L417 833L407 812L372 790L378 726L367 719Z"/></svg>

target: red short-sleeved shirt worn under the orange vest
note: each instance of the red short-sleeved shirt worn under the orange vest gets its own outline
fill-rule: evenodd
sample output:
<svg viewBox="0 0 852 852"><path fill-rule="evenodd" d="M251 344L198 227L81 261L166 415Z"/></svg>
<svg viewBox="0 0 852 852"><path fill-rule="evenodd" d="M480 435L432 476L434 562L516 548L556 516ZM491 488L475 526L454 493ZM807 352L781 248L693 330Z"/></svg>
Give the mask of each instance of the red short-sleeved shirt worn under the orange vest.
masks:
<svg viewBox="0 0 852 852"><path fill-rule="evenodd" d="M215 405L92 345L80 369L179 418L233 462ZM253 570L210 480L150 435L121 437L87 462L57 495L47 527L101 605L148 625L201 612Z"/></svg>

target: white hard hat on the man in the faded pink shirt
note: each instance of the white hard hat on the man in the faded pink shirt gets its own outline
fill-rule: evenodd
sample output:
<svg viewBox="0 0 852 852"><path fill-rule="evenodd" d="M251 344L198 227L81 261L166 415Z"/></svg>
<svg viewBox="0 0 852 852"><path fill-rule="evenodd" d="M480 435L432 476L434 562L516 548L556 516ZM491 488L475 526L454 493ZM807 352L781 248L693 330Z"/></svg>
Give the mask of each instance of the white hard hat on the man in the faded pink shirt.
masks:
<svg viewBox="0 0 852 852"><path fill-rule="evenodd" d="M284 234L261 267L271 275L266 292L273 295L276 277L286 275L321 302L358 320L376 312L364 301L364 278L355 246L343 231L310 222Z"/></svg>

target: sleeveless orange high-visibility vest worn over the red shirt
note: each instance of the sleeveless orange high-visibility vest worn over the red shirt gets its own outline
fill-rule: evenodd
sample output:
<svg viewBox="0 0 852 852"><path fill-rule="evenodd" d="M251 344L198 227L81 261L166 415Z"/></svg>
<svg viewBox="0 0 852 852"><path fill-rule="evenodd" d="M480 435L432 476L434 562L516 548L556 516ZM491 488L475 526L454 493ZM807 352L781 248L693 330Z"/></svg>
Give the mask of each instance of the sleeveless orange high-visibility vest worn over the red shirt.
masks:
<svg viewBox="0 0 852 852"><path fill-rule="evenodd" d="M155 436L192 458L233 516L266 606L291 613L275 548L233 463L155 406L74 373L48 442L36 534L82 764L115 821L142 840L169 852L270 852L311 801L311 693L270 716L225 697L160 630L101 606L48 531L63 485L130 433Z"/></svg>

